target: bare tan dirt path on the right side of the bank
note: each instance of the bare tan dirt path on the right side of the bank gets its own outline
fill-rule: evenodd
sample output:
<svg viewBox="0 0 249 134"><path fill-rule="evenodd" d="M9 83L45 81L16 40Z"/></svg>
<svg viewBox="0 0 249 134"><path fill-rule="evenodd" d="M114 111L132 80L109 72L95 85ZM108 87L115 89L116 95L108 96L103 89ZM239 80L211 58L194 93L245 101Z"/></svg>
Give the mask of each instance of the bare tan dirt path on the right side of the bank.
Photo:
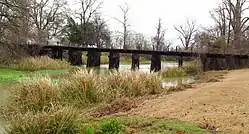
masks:
<svg viewBox="0 0 249 134"><path fill-rule="evenodd" d="M235 134L249 133L249 69L231 71L222 82L147 100L125 115L211 124Z"/></svg>

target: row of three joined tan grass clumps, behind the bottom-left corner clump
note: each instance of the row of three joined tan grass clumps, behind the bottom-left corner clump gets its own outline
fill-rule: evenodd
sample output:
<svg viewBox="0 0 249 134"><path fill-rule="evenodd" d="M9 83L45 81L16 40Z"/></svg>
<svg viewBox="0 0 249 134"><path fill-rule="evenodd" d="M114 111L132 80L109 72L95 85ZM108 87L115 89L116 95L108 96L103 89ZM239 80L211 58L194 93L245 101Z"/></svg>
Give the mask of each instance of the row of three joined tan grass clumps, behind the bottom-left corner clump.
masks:
<svg viewBox="0 0 249 134"><path fill-rule="evenodd" d="M161 77L156 73L114 71L107 76L99 76L92 70L78 69L57 82L49 77L21 82L13 90L7 111L49 112L53 107L68 105L84 108L118 98L133 98L161 91Z"/></svg>

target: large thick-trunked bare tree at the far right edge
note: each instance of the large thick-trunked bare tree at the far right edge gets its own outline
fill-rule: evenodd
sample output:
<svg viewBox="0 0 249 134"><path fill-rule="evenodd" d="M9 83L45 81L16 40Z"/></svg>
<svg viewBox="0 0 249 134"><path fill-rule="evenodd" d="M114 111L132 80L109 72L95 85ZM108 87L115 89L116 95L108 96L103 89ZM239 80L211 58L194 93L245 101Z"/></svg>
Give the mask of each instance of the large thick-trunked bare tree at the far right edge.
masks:
<svg viewBox="0 0 249 134"><path fill-rule="evenodd" d="M249 9L247 2L248 0L223 0L219 7L211 12L219 31L218 39L225 37L227 47L231 46L233 52L242 51L242 41L249 30L249 17L243 16Z"/></svg>

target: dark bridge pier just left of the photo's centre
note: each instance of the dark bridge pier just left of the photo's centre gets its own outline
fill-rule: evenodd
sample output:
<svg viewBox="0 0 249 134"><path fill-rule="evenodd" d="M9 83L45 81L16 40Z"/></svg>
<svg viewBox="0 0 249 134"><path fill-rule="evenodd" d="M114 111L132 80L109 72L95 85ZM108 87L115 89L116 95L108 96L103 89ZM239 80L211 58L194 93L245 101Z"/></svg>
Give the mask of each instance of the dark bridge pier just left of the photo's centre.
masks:
<svg viewBox="0 0 249 134"><path fill-rule="evenodd" d="M109 54L109 69L117 69L119 68L119 53L110 52Z"/></svg>

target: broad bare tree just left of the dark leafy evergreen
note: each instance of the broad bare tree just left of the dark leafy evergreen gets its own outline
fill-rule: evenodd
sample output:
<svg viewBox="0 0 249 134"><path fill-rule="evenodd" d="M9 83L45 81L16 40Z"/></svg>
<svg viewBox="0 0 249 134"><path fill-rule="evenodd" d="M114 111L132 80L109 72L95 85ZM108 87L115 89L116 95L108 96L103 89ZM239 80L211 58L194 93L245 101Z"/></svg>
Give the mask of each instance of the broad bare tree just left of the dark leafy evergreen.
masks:
<svg viewBox="0 0 249 134"><path fill-rule="evenodd" d="M32 0L31 19L34 24L36 40L45 43L46 39L58 35L65 24L63 7L65 0Z"/></svg>

